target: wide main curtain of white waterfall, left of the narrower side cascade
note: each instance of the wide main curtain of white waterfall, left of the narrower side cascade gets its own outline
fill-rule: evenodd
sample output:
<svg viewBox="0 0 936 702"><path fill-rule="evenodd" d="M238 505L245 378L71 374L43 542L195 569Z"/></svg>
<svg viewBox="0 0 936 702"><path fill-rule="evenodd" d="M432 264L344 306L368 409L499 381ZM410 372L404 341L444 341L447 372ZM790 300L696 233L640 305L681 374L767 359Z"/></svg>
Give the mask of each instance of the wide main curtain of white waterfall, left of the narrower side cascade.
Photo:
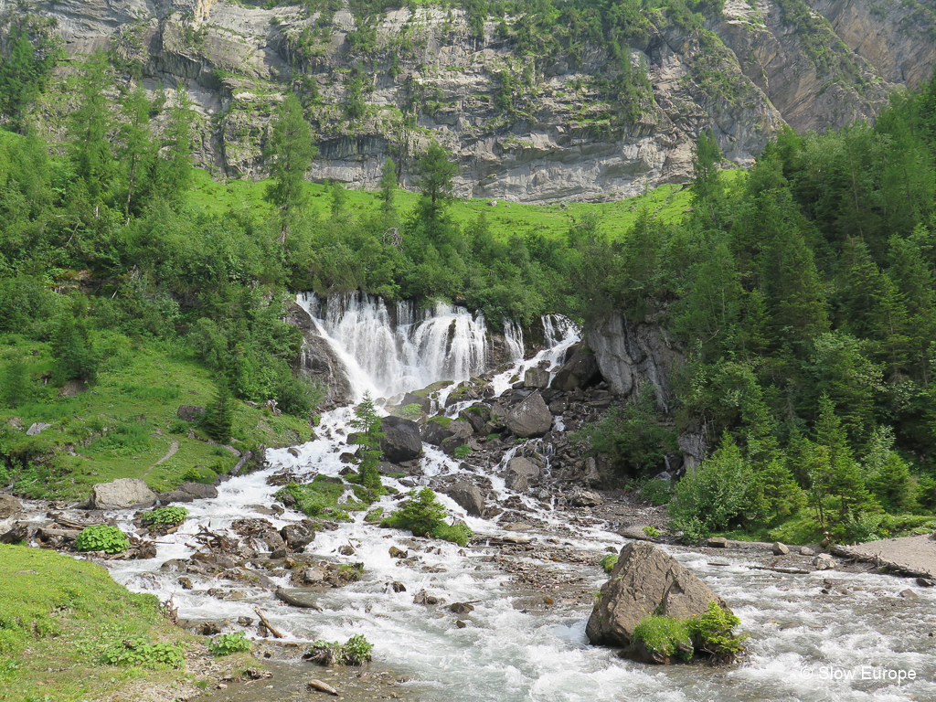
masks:
<svg viewBox="0 0 936 702"><path fill-rule="evenodd" d="M297 302L348 367L358 400L365 391L390 398L485 370L488 329L480 312L443 302L419 309L402 300L391 315L384 300L360 292L327 301L303 293Z"/></svg>

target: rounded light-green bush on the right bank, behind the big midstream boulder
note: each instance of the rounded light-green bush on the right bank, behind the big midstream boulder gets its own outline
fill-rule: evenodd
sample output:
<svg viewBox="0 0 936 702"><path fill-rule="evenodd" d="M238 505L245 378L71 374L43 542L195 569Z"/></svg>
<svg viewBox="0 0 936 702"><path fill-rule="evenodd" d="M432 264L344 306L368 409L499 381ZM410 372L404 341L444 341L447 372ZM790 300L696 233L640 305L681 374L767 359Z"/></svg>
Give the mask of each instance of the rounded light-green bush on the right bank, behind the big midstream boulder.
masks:
<svg viewBox="0 0 936 702"><path fill-rule="evenodd" d="M677 484L669 503L673 526L687 542L724 529L746 504L751 467L740 447L725 434L718 450Z"/></svg>

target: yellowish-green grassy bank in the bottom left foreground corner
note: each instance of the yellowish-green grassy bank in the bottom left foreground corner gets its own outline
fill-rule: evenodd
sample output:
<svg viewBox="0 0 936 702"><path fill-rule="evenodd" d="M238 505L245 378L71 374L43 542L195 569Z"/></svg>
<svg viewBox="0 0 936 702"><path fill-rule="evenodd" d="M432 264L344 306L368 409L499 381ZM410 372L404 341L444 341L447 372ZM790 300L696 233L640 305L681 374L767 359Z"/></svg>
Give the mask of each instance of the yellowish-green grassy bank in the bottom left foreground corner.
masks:
<svg viewBox="0 0 936 702"><path fill-rule="evenodd" d="M135 680L171 686L187 677L153 654L133 665L101 663L139 639L181 654L168 644L196 637L172 626L153 595L127 591L100 565L0 545L0 700L97 702Z"/></svg>

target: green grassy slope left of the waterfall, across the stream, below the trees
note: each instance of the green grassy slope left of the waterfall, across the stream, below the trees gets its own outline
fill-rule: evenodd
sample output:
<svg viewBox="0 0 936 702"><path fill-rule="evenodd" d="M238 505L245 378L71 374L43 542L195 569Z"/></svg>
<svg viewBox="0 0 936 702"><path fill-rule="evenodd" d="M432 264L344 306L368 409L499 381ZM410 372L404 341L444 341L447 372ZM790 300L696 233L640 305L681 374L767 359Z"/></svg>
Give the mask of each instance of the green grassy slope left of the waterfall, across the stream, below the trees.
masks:
<svg viewBox="0 0 936 702"><path fill-rule="evenodd" d="M0 483L12 482L14 492L29 497L83 499L95 483L118 477L142 478L158 492L185 480L211 482L212 471L233 468L237 457L176 415L180 405L212 402L210 370L183 344L121 341L125 347L104 361L90 389L60 397L59 388L41 380L50 373L50 344L0 335L0 373L21 362L34 390L26 402L0 409L0 453L11 460L0 466ZM34 422L51 427L26 436ZM311 432L300 417L235 403L233 445L241 452L298 444ZM196 476L197 465L209 470Z"/></svg>

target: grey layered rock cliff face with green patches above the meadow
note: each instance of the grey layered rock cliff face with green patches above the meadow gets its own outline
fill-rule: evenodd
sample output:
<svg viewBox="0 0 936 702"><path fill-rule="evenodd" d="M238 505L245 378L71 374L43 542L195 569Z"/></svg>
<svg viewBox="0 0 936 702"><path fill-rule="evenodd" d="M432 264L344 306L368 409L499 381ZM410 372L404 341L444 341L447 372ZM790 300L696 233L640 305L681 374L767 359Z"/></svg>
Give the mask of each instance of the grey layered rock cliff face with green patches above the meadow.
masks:
<svg viewBox="0 0 936 702"><path fill-rule="evenodd" d="M461 163L461 195L541 202L683 181L703 128L747 163L784 123L872 119L895 86L929 76L926 7L810 3L728 0L705 31L648 15L630 49L646 81L628 104L608 95L621 68L604 49L520 55L512 29L487 22L472 38L455 8L373 22L235 0L44 0L30 11L57 22L72 55L114 51L124 80L184 85L203 118L197 156L217 175L263 175L271 110L292 87L319 144L313 179L373 187L392 155L406 183L413 155L439 139Z"/></svg>

